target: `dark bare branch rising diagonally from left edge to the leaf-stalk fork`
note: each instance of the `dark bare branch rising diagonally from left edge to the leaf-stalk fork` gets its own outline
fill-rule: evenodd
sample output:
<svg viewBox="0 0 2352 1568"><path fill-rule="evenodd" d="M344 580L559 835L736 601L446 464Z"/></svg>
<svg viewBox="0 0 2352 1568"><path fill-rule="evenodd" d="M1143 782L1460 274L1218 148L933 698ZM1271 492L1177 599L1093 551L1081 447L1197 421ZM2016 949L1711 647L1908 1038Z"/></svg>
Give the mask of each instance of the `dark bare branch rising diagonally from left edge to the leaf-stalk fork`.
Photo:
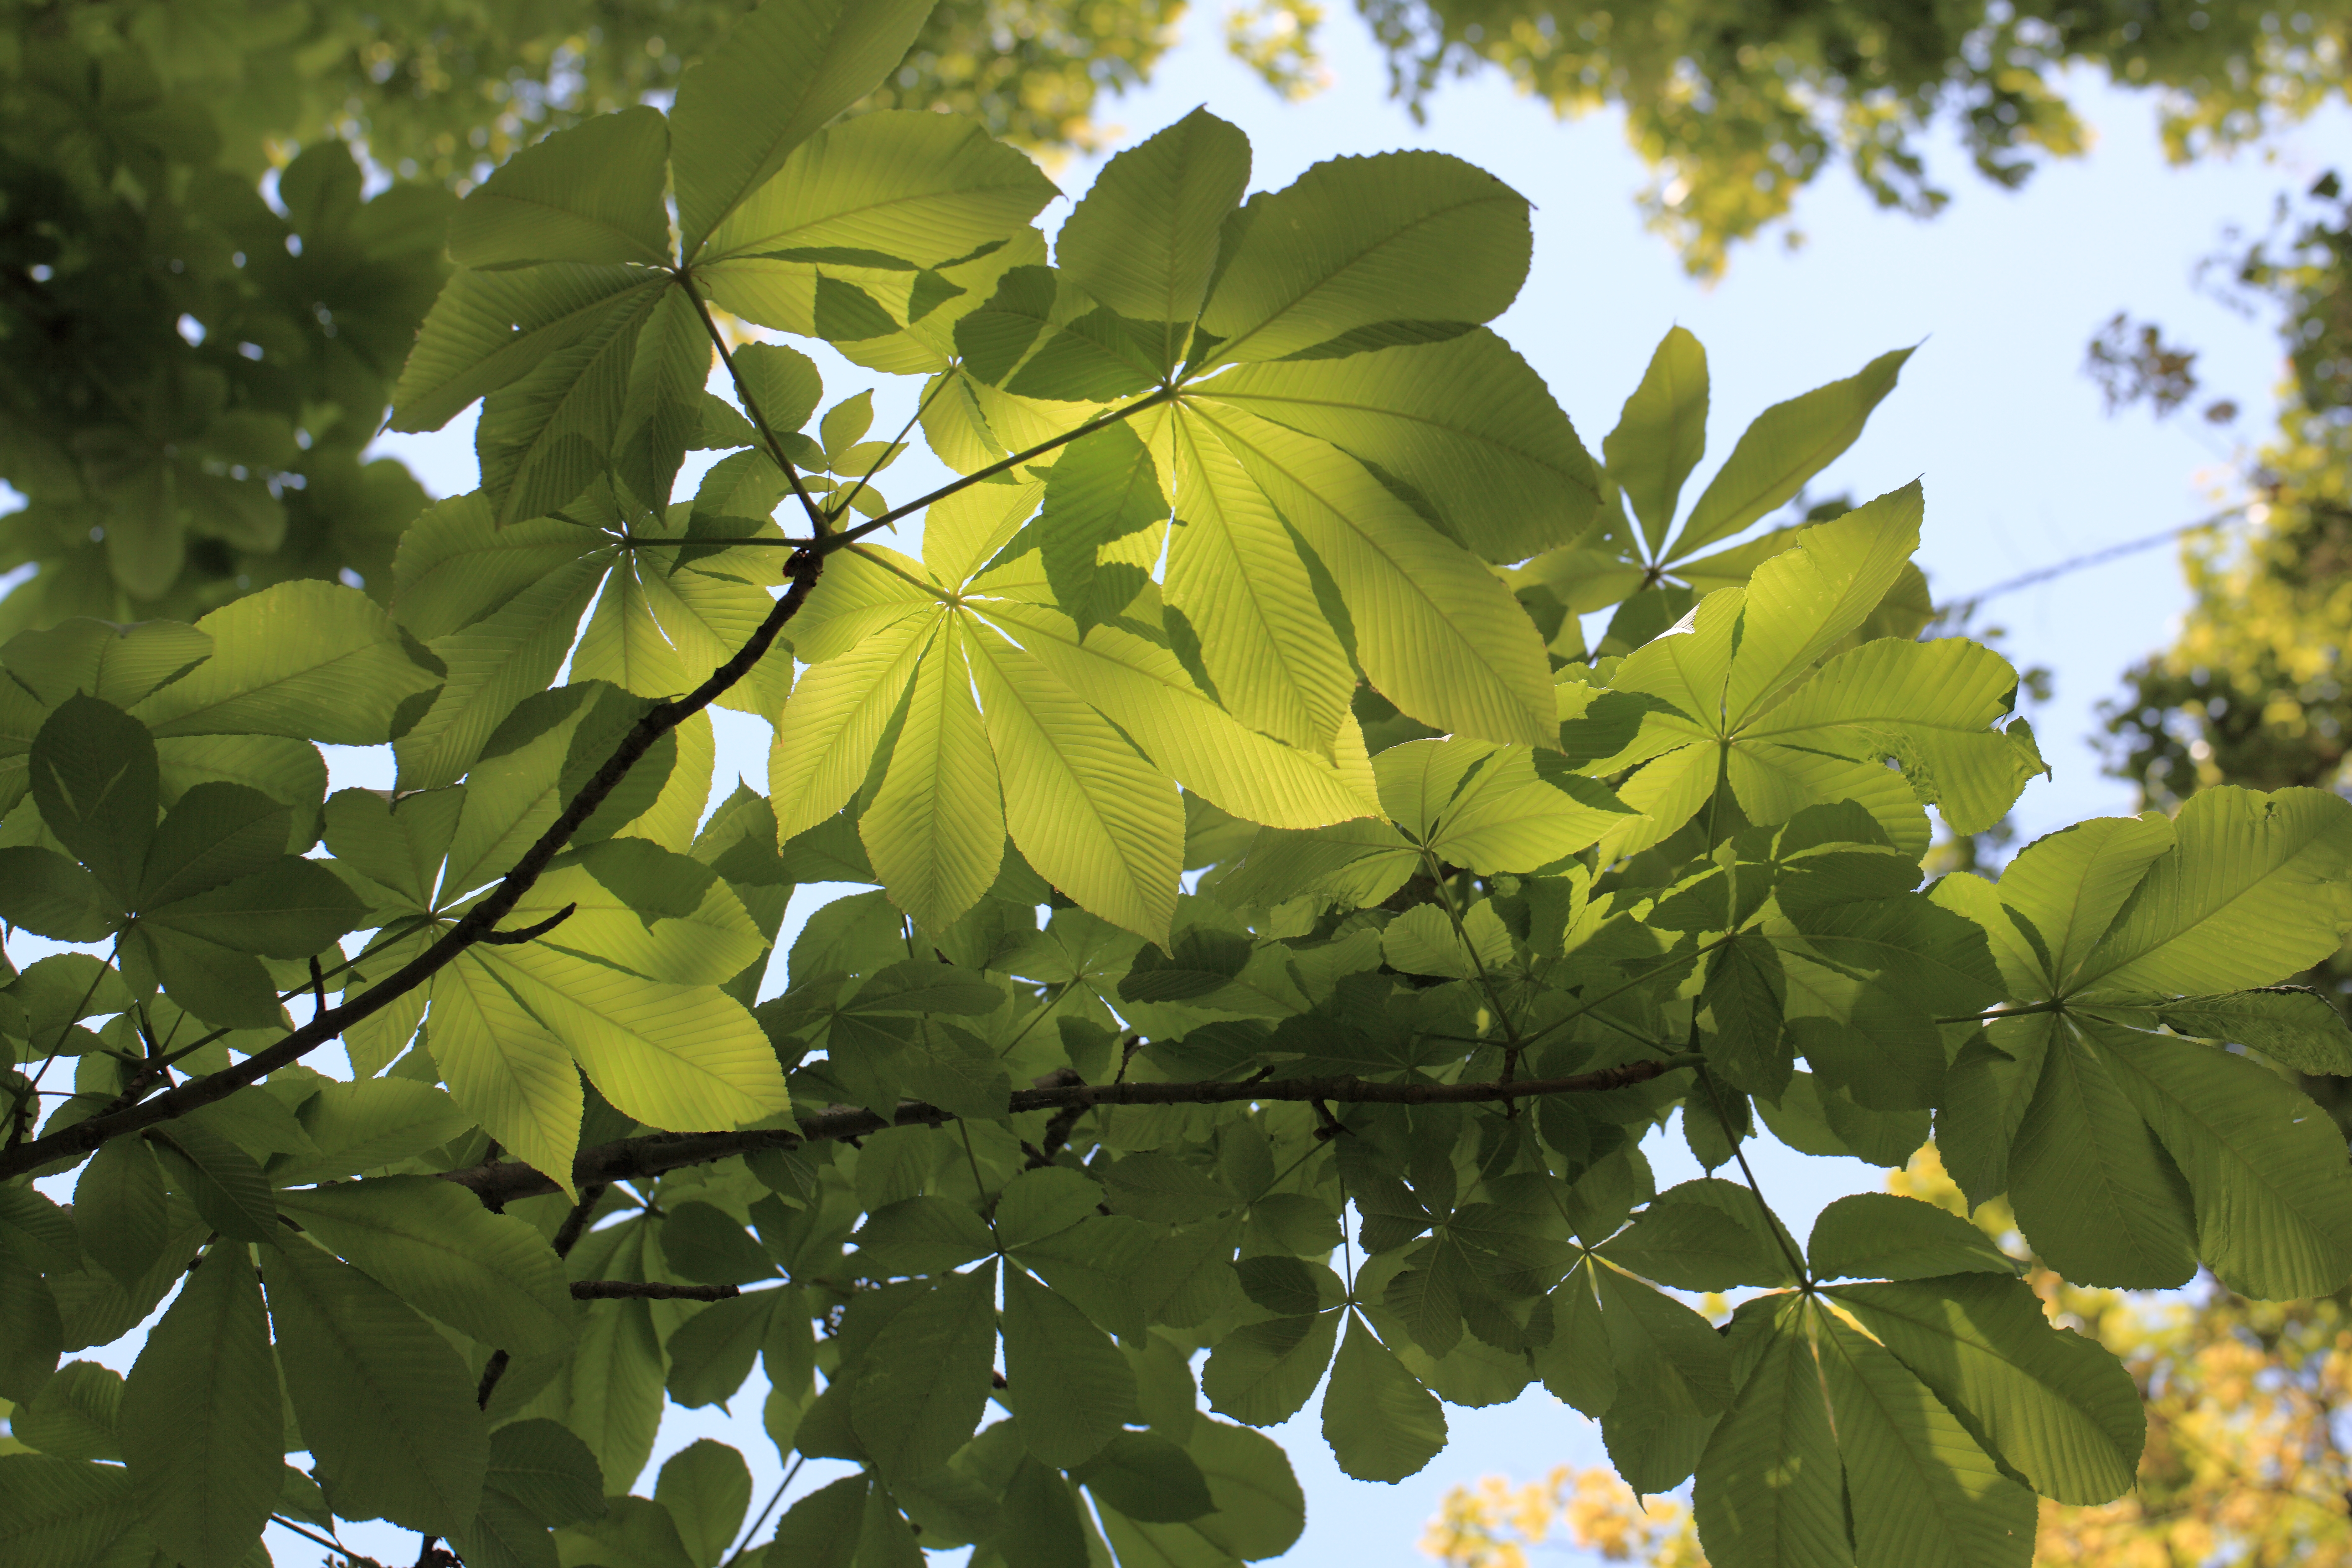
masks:
<svg viewBox="0 0 2352 1568"><path fill-rule="evenodd" d="M800 614L802 604L807 604L809 590L816 588L816 578L823 571L823 562L814 552L795 555L786 571L790 574L793 585L786 588L783 597L767 611L767 618L760 621L760 630L755 630L727 663L713 670L701 686L687 696L654 703L644 710L644 715L630 724L628 733L621 736L621 743L604 759L604 766L600 766L588 783L581 785L581 792L564 804L555 825L539 835L539 842L532 844L515 867L499 879L499 886L492 889L482 903L473 905L473 910L468 910L454 926L449 926L437 943L358 997L343 1001L341 1006L332 1006L325 1013L313 1013L310 1023L292 1030L275 1046L256 1051L233 1067L209 1077L188 1079L179 1088L167 1088L153 1100L141 1100L139 1105L127 1105L122 1110L89 1117L87 1121L75 1121L73 1126L49 1133L47 1138L33 1138L0 1152L0 1180L38 1171L40 1166L59 1159L89 1154L108 1138L136 1133L139 1128L155 1126L158 1121L186 1117L188 1112L212 1105L214 1100L226 1100L247 1084L256 1084L270 1072L301 1060L329 1039L336 1039L350 1025L409 994L456 961L456 957L475 943L499 936L499 922L506 919L517 903L522 903L522 896L532 891L539 877L548 870L548 863L553 863L555 856L562 853L564 844L572 842L572 835L579 832L590 816L595 816L597 806L602 806L604 799L621 785L637 759L654 750L654 743L661 736L684 724L689 717L715 703L729 686L750 675L750 668L776 644L783 625ZM553 1185L534 1187L534 1192L553 1192Z"/></svg>

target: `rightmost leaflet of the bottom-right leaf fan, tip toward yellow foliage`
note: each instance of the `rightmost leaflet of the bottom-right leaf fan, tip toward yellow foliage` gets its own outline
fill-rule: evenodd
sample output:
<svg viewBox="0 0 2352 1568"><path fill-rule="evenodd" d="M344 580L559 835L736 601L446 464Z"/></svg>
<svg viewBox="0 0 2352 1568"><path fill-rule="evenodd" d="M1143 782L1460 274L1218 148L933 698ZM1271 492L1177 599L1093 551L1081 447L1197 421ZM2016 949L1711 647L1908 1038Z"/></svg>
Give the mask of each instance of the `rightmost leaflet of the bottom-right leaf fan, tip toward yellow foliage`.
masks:
<svg viewBox="0 0 2352 1568"><path fill-rule="evenodd" d="M2107 1502L2131 1486L2147 1432L2131 1375L2051 1328L2025 1281L1966 1274L1828 1295L2044 1497Z"/></svg>

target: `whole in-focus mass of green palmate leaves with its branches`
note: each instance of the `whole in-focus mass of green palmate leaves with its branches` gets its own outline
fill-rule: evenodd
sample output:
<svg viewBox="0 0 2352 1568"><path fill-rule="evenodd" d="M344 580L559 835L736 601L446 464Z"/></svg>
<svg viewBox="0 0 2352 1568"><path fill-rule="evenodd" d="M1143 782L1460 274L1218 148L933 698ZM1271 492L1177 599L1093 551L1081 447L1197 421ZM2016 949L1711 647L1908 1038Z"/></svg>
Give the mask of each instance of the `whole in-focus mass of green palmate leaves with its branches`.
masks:
<svg viewBox="0 0 2352 1568"><path fill-rule="evenodd" d="M771 0L466 195L395 418L480 402L482 487L388 609L0 644L0 917L85 947L0 990L12 1563L240 1568L280 1516L1211 1568L1298 1537L1254 1429L1317 1389L1397 1481L1538 1380L1632 1486L1696 1474L1717 1561L2023 1563L2037 1493L2131 1483L2129 1375L1929 1204L1799 1248L1712 1175L1743 1140L1933 1131L2070 1279L2352 1276L2270 1067L2352 1070L2274 985L2352 926L2352 806L1924 886L1929 809L2042 762L2006 663L1912 639L1919 487L1740 543L1898 357L1677 529L1705 357L1668 336L1595 461L1486 327L1517 193L1392 153L1247 195L1195 113L1049 249L983 129L840 118L927 9ZM960 477L887 501L915 428L720 310L920 376ZM764 795L713 802L713 703L771 724ZM329 795L320 743L397 785ZM809 882L873 891L776 954ZM1672 1124L1710 1175L1658 1192ZM1729 1333L1675 1295L1731 1288ZM158 1307L120 1389L64 1361ZM739 1453L633 1486L755 1363L779 1450L856 1474L736 1547Z"/></svg>

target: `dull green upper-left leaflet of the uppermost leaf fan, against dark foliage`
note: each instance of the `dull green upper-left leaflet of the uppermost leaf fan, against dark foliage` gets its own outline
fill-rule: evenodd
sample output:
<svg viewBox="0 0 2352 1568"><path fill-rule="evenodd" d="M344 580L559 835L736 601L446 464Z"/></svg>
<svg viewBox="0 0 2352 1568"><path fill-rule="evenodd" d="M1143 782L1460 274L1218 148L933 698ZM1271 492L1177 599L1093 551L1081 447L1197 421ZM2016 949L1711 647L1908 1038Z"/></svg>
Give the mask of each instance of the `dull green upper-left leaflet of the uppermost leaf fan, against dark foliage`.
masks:
<svg viewBox="0 0 2352 1568"><path fill-rule="evenodd" d="M539 261L670 261L661 188L670 127L623 108L555 132L508 158L449 216L449 261L473 268Z"/></svg>

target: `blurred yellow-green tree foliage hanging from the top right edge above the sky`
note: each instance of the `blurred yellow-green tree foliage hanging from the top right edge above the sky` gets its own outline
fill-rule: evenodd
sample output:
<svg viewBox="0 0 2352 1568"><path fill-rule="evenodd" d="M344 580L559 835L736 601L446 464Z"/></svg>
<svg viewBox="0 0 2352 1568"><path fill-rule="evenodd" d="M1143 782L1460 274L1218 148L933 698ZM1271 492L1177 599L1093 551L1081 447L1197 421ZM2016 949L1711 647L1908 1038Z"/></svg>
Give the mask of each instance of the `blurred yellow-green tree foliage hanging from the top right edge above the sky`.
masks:
<svg viewBox="0 0 2352 1568"><path fill-rule="evenodd" d="M1357 0L1395 87L1501 68L1562 115L1625 110L1656 169L1653 228L1698 275L1788 219L1844 162L1882 207L1929 216L1950 193L1922 148L1957 120L1985 179L2084 153L2086 80L2150 89L2176 160L2246 146L2345 89L2343 0ZM1795 230L1792 230L1795 237Z"/></svg>

